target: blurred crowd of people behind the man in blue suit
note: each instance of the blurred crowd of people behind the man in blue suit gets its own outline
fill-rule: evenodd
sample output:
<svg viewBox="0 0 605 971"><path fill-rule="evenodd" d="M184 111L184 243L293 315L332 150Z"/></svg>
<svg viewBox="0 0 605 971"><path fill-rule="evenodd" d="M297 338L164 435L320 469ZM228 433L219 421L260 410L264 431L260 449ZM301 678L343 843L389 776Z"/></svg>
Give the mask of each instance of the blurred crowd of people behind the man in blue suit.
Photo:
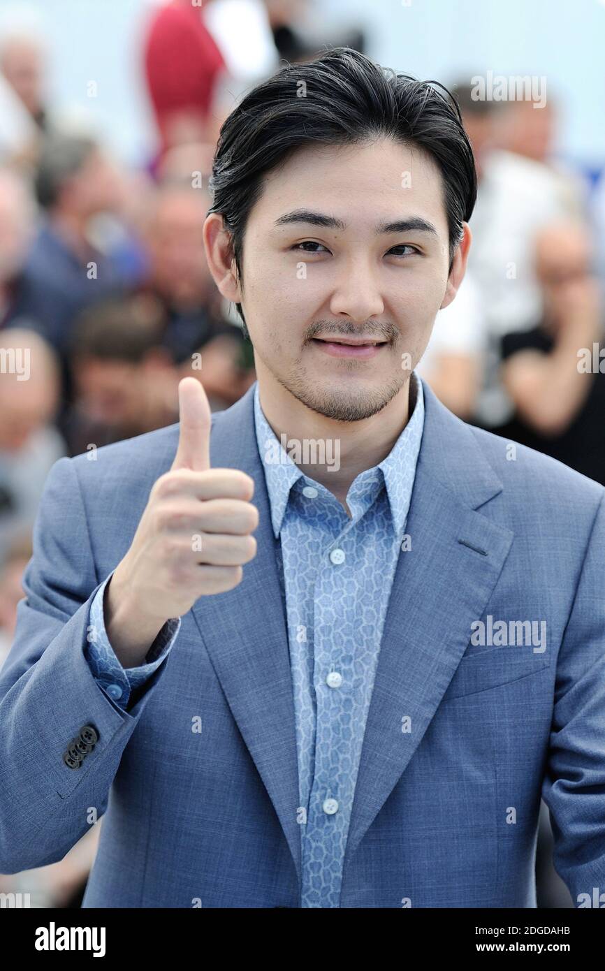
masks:
<svg viewBox="0 0 605 971"><path fill-rule="evenodd" d="M207 184L234 98L281 58L364 49L354 24L321 32L306 6L146 10L135 56L157 150L136 169L51 103L44 37L18 20L0 29L0 664L53 462L178 420L185 375L213 410L254 381L250 342L206 266ZM556 94L540 107L477 100L469 78L443 80L479 193L467 276L418 372L460 418L605 484L605 175L555 156ZM0 891L36 887L32 905L79 906L100 824L36 880L0 876Z"/></svg>

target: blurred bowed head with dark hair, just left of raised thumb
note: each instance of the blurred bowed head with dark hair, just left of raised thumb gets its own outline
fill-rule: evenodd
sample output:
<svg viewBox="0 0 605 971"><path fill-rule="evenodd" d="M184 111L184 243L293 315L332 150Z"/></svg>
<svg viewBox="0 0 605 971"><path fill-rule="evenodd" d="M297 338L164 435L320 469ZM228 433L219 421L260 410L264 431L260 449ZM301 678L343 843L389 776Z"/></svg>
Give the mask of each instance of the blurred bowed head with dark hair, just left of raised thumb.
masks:
<svg viewBox="0 0 605 971"><path fill-rule="evenodd" d="M71 346L74 405L64 432L71 455L172 424L179 377L161 346L164 318L151 298L88 308Z"/></svg>

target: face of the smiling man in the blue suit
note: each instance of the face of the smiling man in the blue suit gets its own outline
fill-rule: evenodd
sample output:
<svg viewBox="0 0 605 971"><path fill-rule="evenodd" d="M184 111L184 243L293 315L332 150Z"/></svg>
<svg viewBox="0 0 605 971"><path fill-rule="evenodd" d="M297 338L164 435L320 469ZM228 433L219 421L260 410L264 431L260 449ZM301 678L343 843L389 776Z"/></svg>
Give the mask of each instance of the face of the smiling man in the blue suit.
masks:
<svg viewBox="0 0 605 971"><path fill-rule="evenodd" d="M297 211L342 225L294 221ZM377 232L410 220L419 225ZM244 237L241 302L259 381L331 419L377 414L454 297L448 268L442 177L427 154L389 139L296 151L269 173ZM360 338L381 343L327 343Z"/></svg>

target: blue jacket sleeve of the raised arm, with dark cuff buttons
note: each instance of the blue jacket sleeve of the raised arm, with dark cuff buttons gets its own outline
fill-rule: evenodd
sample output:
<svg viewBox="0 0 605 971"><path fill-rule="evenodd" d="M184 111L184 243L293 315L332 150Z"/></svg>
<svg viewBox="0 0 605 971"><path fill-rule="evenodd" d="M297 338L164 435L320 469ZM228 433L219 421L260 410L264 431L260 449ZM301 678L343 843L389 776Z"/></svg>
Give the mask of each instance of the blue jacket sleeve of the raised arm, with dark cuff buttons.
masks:
<svg viewBox="0 0 605 971"><path fill-rule="evenodd" d="M56 862L107 807L119 760L166 664L123 711L84 656L96 575L77 459L50 469L0 671L0 873ZM94 821L94 820L92 820Z"/></svg>

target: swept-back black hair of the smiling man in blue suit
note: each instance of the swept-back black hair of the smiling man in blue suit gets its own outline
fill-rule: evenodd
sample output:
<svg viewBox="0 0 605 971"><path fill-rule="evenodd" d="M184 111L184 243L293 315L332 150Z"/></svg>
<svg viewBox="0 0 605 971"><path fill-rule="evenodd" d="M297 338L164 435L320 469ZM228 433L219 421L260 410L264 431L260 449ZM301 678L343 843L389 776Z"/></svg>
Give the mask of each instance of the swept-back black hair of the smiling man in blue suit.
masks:
<svg viewBox="0 0 605 971"><path fill-rule="evenodd" d="M381 67L351 48L288 64L257 84L224 120L213 160L208 213L222 215L243 286L244 232L263 177L303 146L354 145L390 137L432 156L443 176L450 269L477 197L470 142L451 92ZM241 304L237 312L244 323Z"/></svg>

